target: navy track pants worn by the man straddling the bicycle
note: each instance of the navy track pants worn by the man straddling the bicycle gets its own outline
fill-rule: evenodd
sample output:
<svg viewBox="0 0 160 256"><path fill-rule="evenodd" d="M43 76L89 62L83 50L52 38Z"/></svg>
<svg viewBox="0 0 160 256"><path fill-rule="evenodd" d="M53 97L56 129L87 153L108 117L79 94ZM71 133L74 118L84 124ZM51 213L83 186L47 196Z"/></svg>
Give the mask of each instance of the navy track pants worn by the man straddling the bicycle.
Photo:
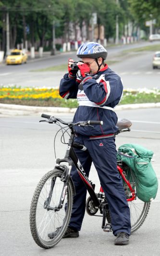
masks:
<svg viewBox="0 0 160 256"><path fill-rule="evenodd" d="M90 140L88 136L78 134L75 142L81 143L87 148L87 151L75 149L87 176L89 176L92 162L98 172L100 184L109 204L113 234L126 232L130 235L130 209L124 194L122 178L117 170L115 138ZM100 146L100 143L103 145ZM85 215L86 186L75 167L72 168L71 176L76 195L69 227L80 230Z"/></svg>

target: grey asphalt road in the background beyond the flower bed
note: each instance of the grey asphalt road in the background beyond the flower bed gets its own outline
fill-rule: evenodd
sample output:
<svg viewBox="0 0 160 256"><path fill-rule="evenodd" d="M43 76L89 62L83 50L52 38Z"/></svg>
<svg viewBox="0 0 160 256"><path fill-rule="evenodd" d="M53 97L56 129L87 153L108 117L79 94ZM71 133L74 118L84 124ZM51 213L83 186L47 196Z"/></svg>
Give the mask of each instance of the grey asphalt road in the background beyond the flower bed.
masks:
<svg viewBox="0 0 160 256"><path fill-rule="evenodd" d="M123 57L123 50L150 45L149 42L107 47L108 60L118 61L110 65L123 79L124 88L160 88L160 70L152 69L154 52L131 53ZM157 44L154 42L152 44ZM58 87L65 71L33 71L67 63L69 57L77 59L75 52L62 53L28 61L23 65L0 65L0 85ZM31 72L32 71L32 72ZM67 64L66 64L67 71Z"/></svg>

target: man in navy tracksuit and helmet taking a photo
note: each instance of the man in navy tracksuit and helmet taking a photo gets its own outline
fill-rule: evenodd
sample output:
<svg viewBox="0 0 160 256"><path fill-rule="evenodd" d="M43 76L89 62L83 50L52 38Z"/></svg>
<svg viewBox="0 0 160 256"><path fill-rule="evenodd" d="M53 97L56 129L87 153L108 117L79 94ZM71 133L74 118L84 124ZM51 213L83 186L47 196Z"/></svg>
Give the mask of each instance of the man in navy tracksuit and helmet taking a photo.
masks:
<svg viewBox="0 0 160 256"><path fill-rule="evenodd" d="M107 198L113 234L116 245L129 243L131 233L130 210L124 195L122 178L117 171L116 146L114 133L117 131L117 115L114 107L119 103L123 94L121 78L111 71L104 60L106 49L94 42L82 44L77 57L82 61L77 63L81 77L71 65L69 59L68 73L64 75L60 84L62 98L77 98L79 107L73 122L100 120L103 126L75 127L75 142L84 144L87 151L75 150L86 174L89 175L92 162L98 172L100 184ZM85 214L86 187L75 168L71 171L76 195L69 226L64 238L78 237ZM58 231L56 231L58 232ZM50 233L53 238L56 232Z"/></svg>

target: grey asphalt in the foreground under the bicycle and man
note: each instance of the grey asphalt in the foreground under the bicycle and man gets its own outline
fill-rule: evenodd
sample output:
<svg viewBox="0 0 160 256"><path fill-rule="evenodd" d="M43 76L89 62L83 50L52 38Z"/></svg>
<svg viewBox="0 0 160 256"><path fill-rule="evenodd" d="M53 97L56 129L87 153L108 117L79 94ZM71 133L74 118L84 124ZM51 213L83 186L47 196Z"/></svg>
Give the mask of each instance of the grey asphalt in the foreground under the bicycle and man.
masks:
<svg viewBox="0 0 160 256"><path fill-rule="evenodd" d="M52 113L54 114L54 113ZM154 151L153 167L160 182L160 111L139 109L117 111L119 118L132 121L131 132L117 136L117 147L138 143ZM72 120L73 115L59 116ZM39 116L0 118L0 255L1 256L160 256L160 189L145 223L127 246L115 246L112 233L103 232L101 218L85 215L80 237L62 239L56 247L44 250L33 241L29 228L29 209L40 178L53 169L54 136L58 127L39 123ZM56 139L57 157L66 145ZM92 167L90 179L99 189Z"/></svg>

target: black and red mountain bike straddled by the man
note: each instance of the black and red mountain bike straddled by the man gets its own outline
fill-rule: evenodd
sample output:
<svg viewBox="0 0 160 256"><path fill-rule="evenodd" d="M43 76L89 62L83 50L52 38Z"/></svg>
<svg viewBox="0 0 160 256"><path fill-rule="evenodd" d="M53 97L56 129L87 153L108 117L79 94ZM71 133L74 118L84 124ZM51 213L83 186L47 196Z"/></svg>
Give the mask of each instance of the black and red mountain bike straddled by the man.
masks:
<svg viewBox="0 0 160 256"><path fill-rule="evenodd" d="M104 231L112 231L111 217L107 199L102 187L95 193L95 185L86 176L85 170L74 152L74 148L87 150L82 144L74 142L74 126L102 125L102 121L84 121L78 123L66 123L60 118L42 114L42 117L49 124L58 124L65 132L70 130L70 137L64 158L56 159L54 170L47 172L39 181L32 198L30 208L30 229L33 239L38 246L48 249L54 247L62 239L69 224L73 197L75 194L74 183L70 176L72 166L75 165L80 177L86 185L89 198L86 200L86 212L89 215L96 215L98 210L102 216L102 226ZM61 126L64 125L64 127ZM117 123L119 130L117 134L130 131L131 122L122 119ZM64 132L62 133L64 136ZM62 162L68 163L68 167ZM131 233L141 227L148 214L150 202L143 202L136 196L136 184L133 171L122 161L117 161L117 169L122 176L123 186L131 212ZM99 215L98 215L99 216ZM106 223L107 221L107 223ZM57 235L50 239L48 233L58 230Z"/></svg>

